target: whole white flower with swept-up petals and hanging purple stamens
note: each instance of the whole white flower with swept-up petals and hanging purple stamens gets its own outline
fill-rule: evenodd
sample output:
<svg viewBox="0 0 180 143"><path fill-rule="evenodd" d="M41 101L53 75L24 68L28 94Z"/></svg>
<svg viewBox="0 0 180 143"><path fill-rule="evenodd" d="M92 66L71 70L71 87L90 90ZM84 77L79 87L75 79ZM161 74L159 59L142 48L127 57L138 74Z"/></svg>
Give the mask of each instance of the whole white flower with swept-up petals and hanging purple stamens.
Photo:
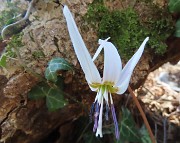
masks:
<svg viewBox="0 0 180 143"><path fill-rule="evenodd" d="M139 61L144 51L145 44L149 38L147 37L144 40L137 52L122 69L121 58L116 47L111 42L107 41L109 38L106 40L99 40L100 46L92 59L67 6L64 6L63 13L67 21L67 27L75 53L85 74L85 78L91 90L97 92L95 101L91 107L91 115L94 113L93 131L96 131L96 136L103 136L102 114L103 101L105 100L105 117L108 120L108 111L110 106L115 124L115 135L116 138L119 139L118 122L115 115L111 93L123 94L127 90L134 67ZM102 49L104 49L103 77L100 76L99 71L93 62ZM109 99L110 101L108 101Z"/></svg>

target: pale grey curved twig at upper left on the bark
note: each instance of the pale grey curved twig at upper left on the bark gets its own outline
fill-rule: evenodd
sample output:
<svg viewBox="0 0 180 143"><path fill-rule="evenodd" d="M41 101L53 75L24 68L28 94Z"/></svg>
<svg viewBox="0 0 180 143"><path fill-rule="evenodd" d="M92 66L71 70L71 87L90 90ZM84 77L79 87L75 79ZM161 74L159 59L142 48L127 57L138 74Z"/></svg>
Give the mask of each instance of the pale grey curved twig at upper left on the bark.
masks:
<svg viewBox="0 0 180 143"><path fill-rule="evenodd" d="M9 24L9 25L5 26L5 27L2 29L2 31L1 31L1 36L2 36L2 39L3 39L3 40L6 39L6 31L7 31L9 28L18 25L18 24L20 24L21 22L26 21L26 20L29 18L31 9L32 9L32 7L33 7L33 3L34 3L34 0L32 0L32 1L29 3L29 7L28 7L27 12L26 12L26 15L24 16L23 19L21 19L21 20L19 20L19 21L16 21L15 23Z"/></svg>

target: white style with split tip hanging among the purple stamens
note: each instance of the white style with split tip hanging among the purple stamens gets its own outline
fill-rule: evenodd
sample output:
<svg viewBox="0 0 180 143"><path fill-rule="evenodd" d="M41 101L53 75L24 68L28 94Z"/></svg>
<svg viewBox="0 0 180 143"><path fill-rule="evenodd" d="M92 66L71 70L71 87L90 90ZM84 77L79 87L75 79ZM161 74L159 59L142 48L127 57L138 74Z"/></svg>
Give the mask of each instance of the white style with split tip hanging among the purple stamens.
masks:
<svg viewBox="0 0 180 143"><path fill-rule="evenodd" d="M103 98L101 96L101 108L100 108L100 114L99 114L99 121L98 121L98 127L96 130L96 136L100 135L100 137L103 137L102 135L102 113L103 113Z"/></svg>

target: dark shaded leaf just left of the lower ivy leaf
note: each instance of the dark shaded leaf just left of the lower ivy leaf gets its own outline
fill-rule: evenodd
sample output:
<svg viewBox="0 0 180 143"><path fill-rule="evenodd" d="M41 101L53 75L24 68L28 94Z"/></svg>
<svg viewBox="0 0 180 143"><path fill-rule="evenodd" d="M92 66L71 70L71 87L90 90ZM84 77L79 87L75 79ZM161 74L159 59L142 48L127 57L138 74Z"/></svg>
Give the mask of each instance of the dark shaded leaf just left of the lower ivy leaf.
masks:
<svg viewBox="0 0 180 143"><path fill-rule="evenodd" d="M28 94L28 97L30 99L35 99L35 100L44 98L46 97L46 94L48 93L49 88L50 87L47 84L40 83L31 89L31 91Z"/></svg>

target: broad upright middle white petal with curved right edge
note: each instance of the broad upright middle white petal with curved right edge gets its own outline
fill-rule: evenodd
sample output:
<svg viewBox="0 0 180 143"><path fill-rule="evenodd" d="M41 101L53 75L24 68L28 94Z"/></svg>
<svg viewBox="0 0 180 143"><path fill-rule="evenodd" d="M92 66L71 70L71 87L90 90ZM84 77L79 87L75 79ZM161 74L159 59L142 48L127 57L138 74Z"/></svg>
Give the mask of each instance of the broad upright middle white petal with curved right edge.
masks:
<svg viewBox="0 0 180 143"><path fill-rule="evenodd" d="M117 83L121 70L122 63L116 47L111 42L103 42L104 47L104 71L103 83Z"/></svg>

